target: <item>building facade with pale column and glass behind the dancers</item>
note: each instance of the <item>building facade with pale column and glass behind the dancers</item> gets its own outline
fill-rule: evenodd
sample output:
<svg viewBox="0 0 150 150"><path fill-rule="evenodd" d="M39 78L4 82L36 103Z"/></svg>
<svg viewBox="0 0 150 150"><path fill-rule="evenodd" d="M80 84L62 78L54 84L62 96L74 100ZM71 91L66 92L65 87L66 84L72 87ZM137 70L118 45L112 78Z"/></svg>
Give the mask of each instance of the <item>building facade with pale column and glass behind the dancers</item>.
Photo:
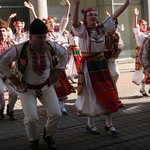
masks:
<svg viewBox="0 0 150 150"><path fill-rule="evenodd" d="M29 9L24 7L24 0L1 0L0 1L0 18L7 20L10 14L17 13L17 16L12 19L13 21L24 21L25 30L28 30L29 24L33 17ZM59 22L65 13L66 6L63 0L30 0L34 5L37 16L42 19L46 18L48 15L52 15L57 18ZM86 8L95 8L99 13L99 20L102 22L106 18L106 11L110 14L118 9L125 0L82 0L80 4L80 10ZM119 16L119 32L121 33L122 39L124 41L125 47L120 58L134 58L134 49L136 47L134 34L132 31L133 18L134 18L134 8L137 7L140 10L139 19L145 19L150 25L150 0L132 0L130 6ZM68 24L68 29L71 25L72 14L73 14L74 3L71 0L71 11L70 11L70 22ZM149 7L150 8L150 7ZM80 19L82 20L82 14ZM12 28L12 22L10 27Z"/></svg>

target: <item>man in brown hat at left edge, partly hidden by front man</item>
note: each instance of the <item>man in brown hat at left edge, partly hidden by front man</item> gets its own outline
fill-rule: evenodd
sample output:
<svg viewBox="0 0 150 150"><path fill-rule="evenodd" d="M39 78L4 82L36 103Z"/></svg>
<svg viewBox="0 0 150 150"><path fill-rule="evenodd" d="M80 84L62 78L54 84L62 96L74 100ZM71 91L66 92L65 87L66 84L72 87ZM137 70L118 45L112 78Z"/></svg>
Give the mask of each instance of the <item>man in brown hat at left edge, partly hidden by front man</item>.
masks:
<svg viewBox="0 0 150 150"><path fill-rule="evenodd" d="M5 21L0 19L0 57L2 57L3 53L7 51L8 48L14 46L14 43L11 39L8 38L8 26ZM11 63L9 67L11 68ZM17 101L18 93L13 87L11 87L7 82L7 77L0 73L0 120L4 119L4 109L5 109L5 100L4 100L4 86L8 90L9 98L7 104L7 116L10 117L11 120L16 120L14 117L14 106Z"/></svg>

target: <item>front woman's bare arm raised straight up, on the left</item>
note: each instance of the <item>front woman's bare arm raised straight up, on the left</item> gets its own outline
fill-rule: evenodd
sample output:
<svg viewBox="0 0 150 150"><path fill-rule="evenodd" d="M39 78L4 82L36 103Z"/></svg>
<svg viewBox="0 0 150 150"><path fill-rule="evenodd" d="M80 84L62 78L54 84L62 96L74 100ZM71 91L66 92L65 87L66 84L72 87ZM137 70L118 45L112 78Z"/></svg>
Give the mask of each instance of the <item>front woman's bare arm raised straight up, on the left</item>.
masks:
<svg viewBox="0 0 150 150"><path fill-rule="evenodd" d="M74 0L75 6L74 6L74 13L73 13L73 20L72 20L72 25L77 28L80 26L79 24L79 5L80 5L80 0Z"/></svg>

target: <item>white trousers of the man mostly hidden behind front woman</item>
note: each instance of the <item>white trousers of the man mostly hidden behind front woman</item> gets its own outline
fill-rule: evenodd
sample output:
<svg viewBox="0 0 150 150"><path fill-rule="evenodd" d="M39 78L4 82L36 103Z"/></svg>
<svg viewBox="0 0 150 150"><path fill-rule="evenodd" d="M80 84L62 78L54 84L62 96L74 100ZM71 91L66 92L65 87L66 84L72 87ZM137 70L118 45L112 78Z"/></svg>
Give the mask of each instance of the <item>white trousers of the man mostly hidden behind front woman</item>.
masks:
<svg viewBox="0 0 150 150"><path fill-rule="evenodd" d="M109 59L107 65L108 65L108 68L109 68L109 70L112 74L112 77L116 83L119 78L120 72L119 72L119 69L118 69L118 66L117 66L115 60Z"/></svg>

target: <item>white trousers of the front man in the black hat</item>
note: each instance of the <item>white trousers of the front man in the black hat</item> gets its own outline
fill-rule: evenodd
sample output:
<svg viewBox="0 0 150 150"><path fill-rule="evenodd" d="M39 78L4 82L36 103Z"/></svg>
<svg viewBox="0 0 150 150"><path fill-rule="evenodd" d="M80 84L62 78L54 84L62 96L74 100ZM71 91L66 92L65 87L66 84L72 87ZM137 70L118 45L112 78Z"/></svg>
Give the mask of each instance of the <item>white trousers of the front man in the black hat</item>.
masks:
<svg viewBox="0 0 150 150"><path fill-rule="evenodd" d="M42 96L39 101L46 108L47 122L45 125L46 136L53 136L57 130L57 126L62 116L59 101L55 93L53 85L48 87L44 86L42 89ZM19 93L23 112L25 115L24 124L27 135L30 141L39 139L39 125L37 114L37 98L36 91L27 89L27 92ZM44 128L43 128L44 130Z"/></svg>

